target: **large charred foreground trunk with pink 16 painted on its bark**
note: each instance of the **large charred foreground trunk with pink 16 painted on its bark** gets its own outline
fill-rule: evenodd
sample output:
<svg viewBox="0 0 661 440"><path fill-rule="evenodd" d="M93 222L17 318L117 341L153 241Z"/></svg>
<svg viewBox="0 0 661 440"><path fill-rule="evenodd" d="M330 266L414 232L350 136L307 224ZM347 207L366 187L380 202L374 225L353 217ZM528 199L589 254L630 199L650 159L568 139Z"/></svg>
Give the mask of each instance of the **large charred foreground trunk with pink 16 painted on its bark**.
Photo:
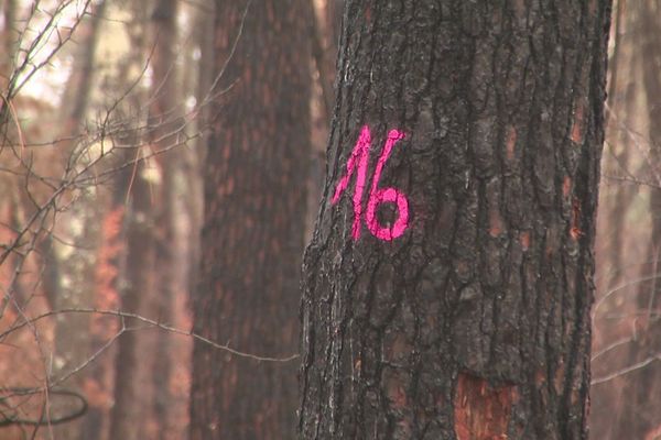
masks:
<svg viewBox="0 0 661 440"><path fill-rule="evenodd" d="M609 15L347 1L301 438L587 438Z"/></svg>

